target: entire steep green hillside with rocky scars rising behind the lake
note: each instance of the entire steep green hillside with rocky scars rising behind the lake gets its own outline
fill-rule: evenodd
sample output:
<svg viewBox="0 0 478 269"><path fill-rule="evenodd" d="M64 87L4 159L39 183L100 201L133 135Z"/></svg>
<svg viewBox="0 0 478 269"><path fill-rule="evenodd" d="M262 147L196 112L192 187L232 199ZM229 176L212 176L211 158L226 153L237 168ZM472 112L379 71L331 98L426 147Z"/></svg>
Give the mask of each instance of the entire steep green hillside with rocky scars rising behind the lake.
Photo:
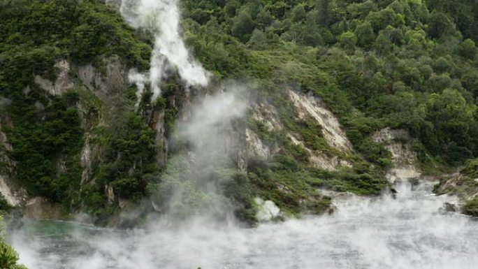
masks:
<svg viewBox="0 0 478 269"><path fill-rule="evenodd" d="M393 145L425 174L478 157L475 1L182 0L211 82L170 68L161 94L131 79L154 33L103 2L0 1L0 185L34 217L129 226L226 201L254 224L388 191ZM212 108L227 124L181 132Z"/></svg>

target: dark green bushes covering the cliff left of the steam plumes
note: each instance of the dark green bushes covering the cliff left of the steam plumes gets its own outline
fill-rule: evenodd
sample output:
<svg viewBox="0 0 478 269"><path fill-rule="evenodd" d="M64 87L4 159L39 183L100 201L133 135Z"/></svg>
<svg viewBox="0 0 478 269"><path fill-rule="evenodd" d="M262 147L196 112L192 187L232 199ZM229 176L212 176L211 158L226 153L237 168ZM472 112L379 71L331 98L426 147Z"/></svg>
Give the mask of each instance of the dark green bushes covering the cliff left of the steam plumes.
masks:
<svg viewBox="0 0 478 269"><path fill-rule="evenodd" d="M0 1L0 20L0 89L6 100L1 119L13 147L15 179L32 196L64 203L66 212L85 204L94 210L104 208L103 183L117 186L126 198L138 196L138 191L142 195L142 180L124 173L133 165L130 162L151 157L154 133L145 119L131 114L127 101L110 104L122 120L88 130L107 148L101 166L94 167L101 184L82 189L80 151L89 127L83 119L97 121L101 105L82 89L52 96L34 82L34 76L55 81L54 65L60 59L77 66L93 64L106 72L103 59L112 55L119 55L124 66L147 68L150 45L140 41L115 10L98 1ZM127 89L122 96L133 98ZM81 105L85 115L80 115ZM116 160L120 153L125 154ZM142 170L140 177L147 171ZM125 178L131 183L127 188L122 187Z"/></svg>

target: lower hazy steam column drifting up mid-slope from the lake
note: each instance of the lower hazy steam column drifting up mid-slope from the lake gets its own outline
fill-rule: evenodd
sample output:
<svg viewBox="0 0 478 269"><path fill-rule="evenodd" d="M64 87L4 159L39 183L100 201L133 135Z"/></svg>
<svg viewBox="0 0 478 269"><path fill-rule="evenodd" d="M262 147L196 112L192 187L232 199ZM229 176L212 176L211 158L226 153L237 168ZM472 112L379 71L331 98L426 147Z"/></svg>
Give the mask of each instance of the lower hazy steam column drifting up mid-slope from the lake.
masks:
<svg viewBox="0 0 478 269"><path fill-rule="evenodd" d="M198 215L233 221L234 207L222 194L222 186L237 173L229 154L237 150L233 123L247 109L241 97L244 90L231 84L228 92L198 99L178 122L175 147L186 150L168 161L152 198L154 208L168 215L168 221L184 222Z"/></svg>

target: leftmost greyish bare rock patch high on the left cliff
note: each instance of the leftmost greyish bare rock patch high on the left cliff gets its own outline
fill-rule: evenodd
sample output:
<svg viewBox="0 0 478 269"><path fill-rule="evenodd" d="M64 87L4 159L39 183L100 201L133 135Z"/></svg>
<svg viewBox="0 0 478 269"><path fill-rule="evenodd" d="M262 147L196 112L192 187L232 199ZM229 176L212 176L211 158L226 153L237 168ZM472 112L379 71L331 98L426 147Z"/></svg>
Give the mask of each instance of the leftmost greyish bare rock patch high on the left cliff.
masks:
<svg viewBox="0 0 478 269"><path fill-rule="evenodd" d="M40 75L35 75L35 83L42 89L52 95L64 94L68 89L73 88L73 82L70 79L70 64L66 60L60 60L55 63L55 68L58 69L57 80L52 82Z"/></svg>

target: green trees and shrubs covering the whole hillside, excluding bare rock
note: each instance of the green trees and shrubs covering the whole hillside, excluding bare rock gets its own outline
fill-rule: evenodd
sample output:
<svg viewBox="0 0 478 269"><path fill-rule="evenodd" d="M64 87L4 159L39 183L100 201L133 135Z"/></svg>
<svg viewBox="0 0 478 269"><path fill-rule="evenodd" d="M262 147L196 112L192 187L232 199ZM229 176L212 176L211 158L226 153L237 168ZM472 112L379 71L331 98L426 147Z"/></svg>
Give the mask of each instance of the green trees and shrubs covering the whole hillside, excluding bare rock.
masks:
<svg viewBox="0 0 478 269"><path fill-rule="evenodd" d="M249 120L262 140L280 143L283 150L270 163L251 161L246 175L229 175L226 196L242 204L241 219L254 221L257 194L291 215L328 208L326 196L298 202L313 196L316 187L379 194L387 185L391 154L371 136L385 127L410 132L425 173L449 172L478 157L474 0L179 3L185 41L214 80L254 82L256 98L273 104L308 148L339 154L324 143L317 123L294 117L284 89L313 94L338 116L354 146L347 157L352 168L321 170L307 164L307 152L286 133ZM173 177L183 163L158 163L161 146L155 145L148 111L164 112L168 136L180 110L170 97L184 97L178 94L179 79L171 78L158 100L149 100L146 92L140 110L133 108L136 89L121 89L112 99L110 124L103 126L95 121L105 108L91 93L73 89L52 96L34 83L35 75L54 80L59 59L106 73L105 57L117 55L127 68L146 70L151 33L132 29L113 6L96 0L0 0L0 22L1 126L12 144L1 152L15 161L15 178L29 194L62 203L65 212L86 208L107 216L118 208L107 203L105 184L137 204L164 189L165 175ZM92 139L101 144L92 168L95 182L88 185L81 182L80 166L85 133L94 133ZM275 188L277 182L290 191Z"/></svg>

